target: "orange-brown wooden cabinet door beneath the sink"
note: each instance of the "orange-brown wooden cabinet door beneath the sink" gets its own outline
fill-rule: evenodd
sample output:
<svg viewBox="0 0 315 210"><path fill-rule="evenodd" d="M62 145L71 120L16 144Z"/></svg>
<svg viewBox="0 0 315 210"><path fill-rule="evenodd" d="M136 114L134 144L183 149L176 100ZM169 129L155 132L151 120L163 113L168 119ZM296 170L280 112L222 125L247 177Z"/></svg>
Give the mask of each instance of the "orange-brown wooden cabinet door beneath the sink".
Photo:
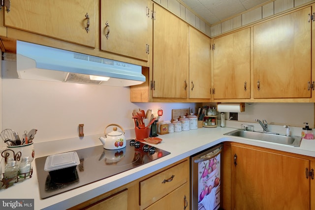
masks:
<svg viewBox="0 0 315 210"><path fill-rule="evenodd" d="M232 209L310 209L309 160L235 145L231 152Z"/></svg>

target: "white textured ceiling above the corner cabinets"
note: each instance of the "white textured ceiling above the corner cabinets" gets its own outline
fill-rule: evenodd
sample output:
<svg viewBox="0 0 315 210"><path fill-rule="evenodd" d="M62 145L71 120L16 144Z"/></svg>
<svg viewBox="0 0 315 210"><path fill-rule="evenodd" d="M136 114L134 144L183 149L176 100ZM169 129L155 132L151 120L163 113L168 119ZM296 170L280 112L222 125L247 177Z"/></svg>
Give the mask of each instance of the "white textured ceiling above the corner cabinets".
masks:
<svg viewBox="0 0 315 210"><path fill-rule="evenodd" d="M182 0L209 25L244 12L270 0Z"/></svg>

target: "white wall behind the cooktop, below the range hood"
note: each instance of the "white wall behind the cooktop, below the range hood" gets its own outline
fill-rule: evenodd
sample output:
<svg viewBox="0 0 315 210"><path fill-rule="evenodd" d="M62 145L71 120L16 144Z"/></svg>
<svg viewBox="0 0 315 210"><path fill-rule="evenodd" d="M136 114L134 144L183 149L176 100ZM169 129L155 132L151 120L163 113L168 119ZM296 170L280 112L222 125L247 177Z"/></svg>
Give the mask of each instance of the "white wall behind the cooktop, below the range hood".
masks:
<svg viewBox="0 0 315 210"><path fill-rule="evenodd" d="M131 103L129 88L14 79L16 62L2 66L2 128L22 136L36 128L34 141L43 142L104 132L110 123L134 128L133 109L163 109L161 120L171 119L172 109L194 108L194 103ZM110 131L110 130L109 130ZM1 141L2 143L2 141Z"/></svg>

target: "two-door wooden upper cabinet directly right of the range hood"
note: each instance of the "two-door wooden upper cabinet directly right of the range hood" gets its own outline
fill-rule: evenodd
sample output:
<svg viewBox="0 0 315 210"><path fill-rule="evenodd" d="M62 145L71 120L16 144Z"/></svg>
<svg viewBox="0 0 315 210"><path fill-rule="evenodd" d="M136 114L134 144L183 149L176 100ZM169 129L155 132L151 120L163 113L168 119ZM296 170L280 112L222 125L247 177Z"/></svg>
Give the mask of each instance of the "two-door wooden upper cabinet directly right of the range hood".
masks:
<svg viewBox="0 0 315 210"><path fill-rule="evenodd" d="M153 5L153 54L147 81L130 87L131 102L209 102L211 39Z"/></svg>

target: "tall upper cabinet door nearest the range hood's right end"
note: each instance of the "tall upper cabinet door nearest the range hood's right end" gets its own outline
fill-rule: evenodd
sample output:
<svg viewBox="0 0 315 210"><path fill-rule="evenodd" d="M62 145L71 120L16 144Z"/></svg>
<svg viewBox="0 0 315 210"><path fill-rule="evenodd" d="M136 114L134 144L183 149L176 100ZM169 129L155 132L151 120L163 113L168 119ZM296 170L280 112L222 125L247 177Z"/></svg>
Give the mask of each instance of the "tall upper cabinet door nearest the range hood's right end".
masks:
<svg viewBox="0 0 315 210"><path fill-rule="evenodd" d="M154 4L153 97L188 98L188 24Z"/></svg>

